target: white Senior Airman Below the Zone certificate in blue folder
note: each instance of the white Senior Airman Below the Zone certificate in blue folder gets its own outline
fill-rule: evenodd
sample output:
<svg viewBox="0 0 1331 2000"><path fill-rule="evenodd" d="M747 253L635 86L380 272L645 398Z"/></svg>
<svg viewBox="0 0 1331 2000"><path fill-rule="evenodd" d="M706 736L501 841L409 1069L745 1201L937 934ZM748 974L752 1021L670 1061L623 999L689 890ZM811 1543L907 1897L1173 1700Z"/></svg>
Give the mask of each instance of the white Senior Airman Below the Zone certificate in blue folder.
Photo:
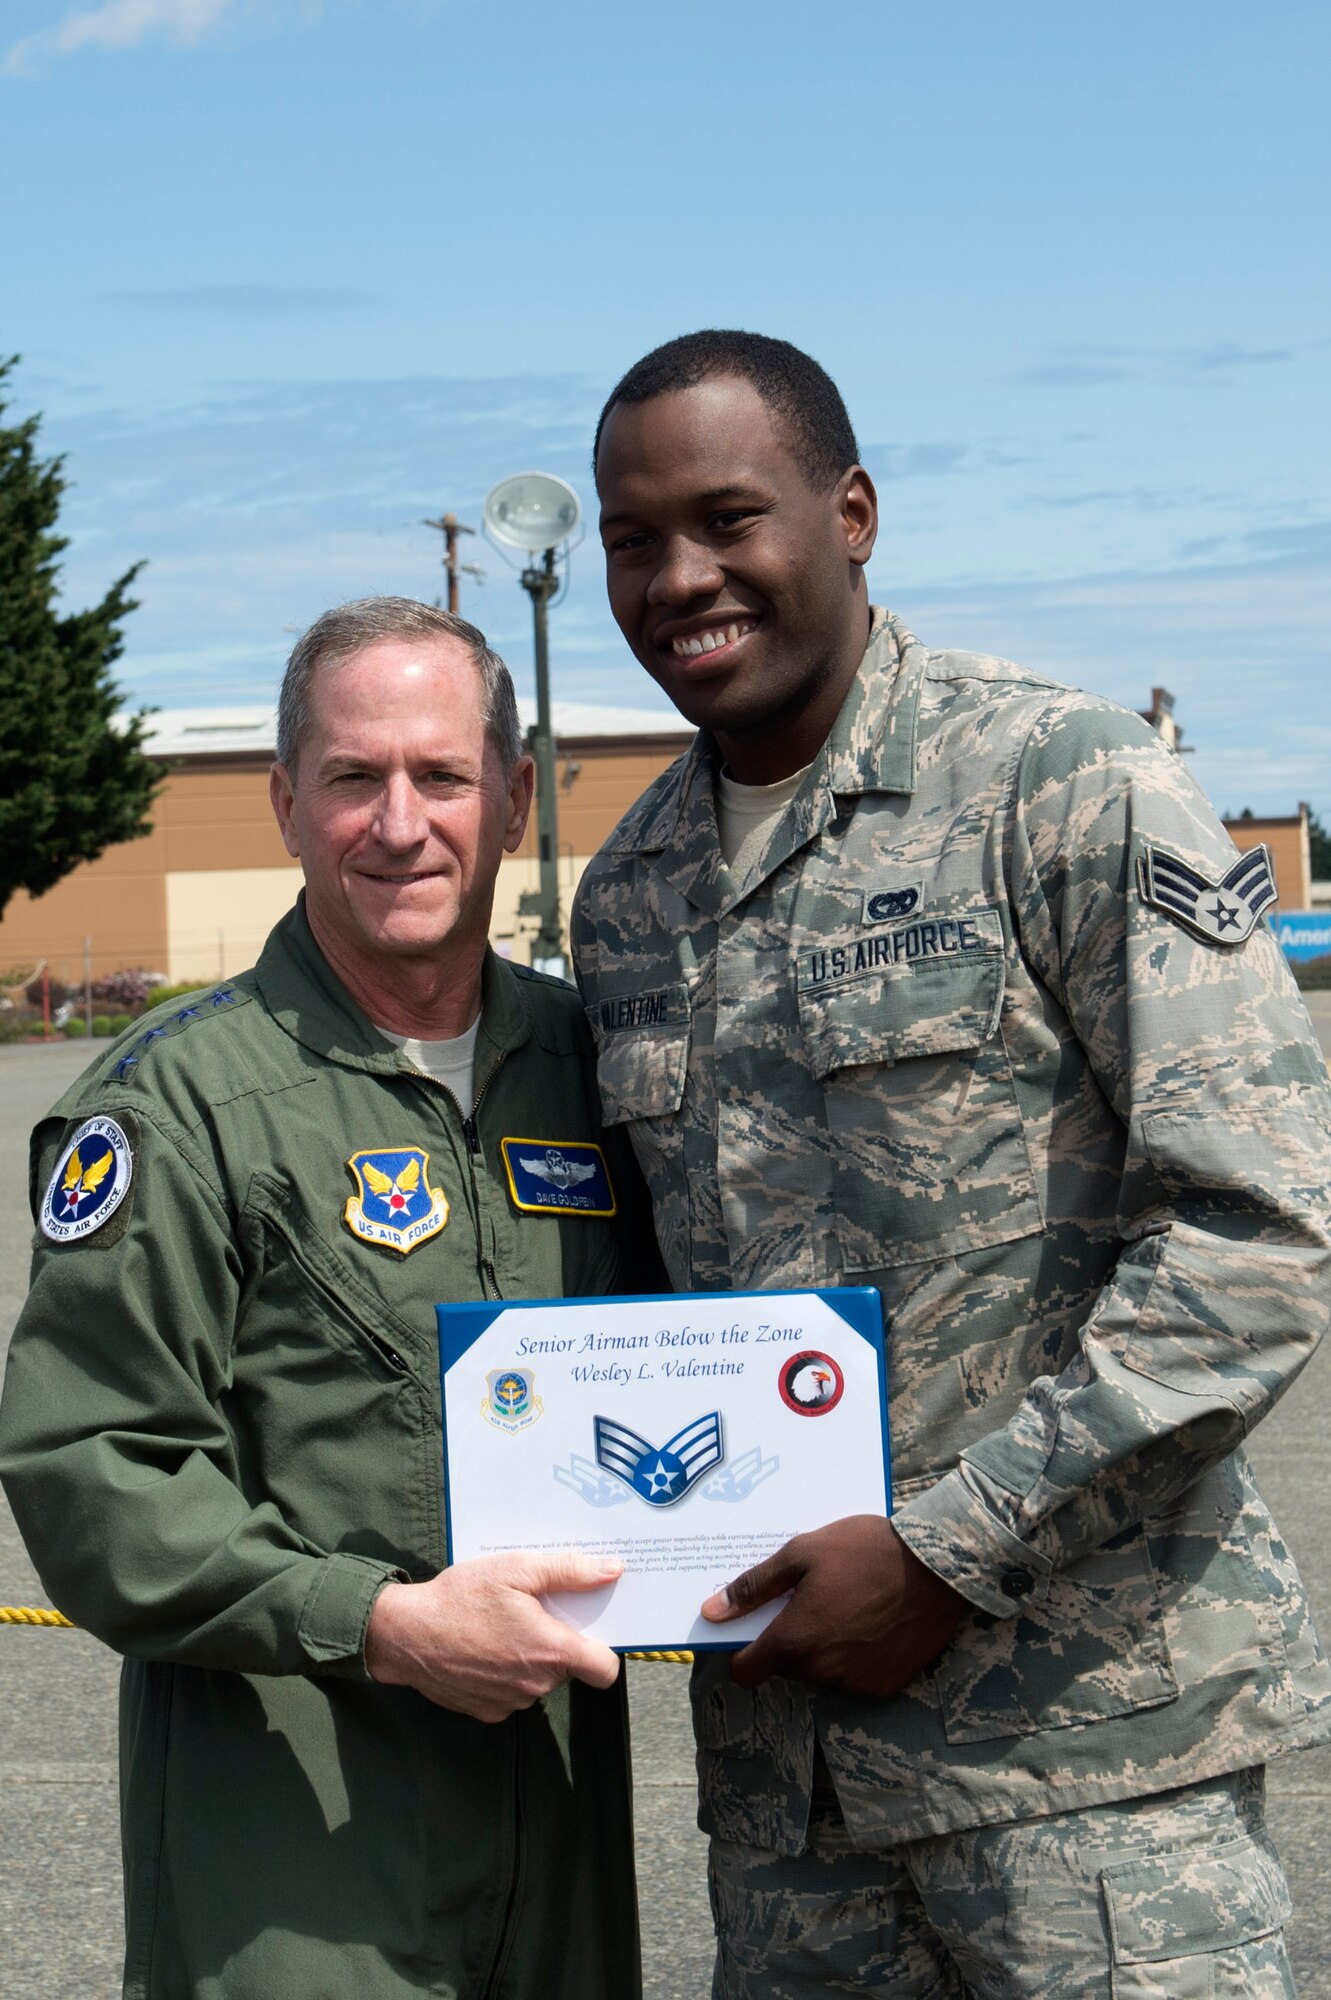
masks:
<svg viewBox="0 0 1331 2000"><path fill-rule="evenodd" d="M618 1556L550 1610L622 1652L741 1646L705 1596L793 1534L887 1514L875 1290L440 1306L450 1562Z"/></svg>

